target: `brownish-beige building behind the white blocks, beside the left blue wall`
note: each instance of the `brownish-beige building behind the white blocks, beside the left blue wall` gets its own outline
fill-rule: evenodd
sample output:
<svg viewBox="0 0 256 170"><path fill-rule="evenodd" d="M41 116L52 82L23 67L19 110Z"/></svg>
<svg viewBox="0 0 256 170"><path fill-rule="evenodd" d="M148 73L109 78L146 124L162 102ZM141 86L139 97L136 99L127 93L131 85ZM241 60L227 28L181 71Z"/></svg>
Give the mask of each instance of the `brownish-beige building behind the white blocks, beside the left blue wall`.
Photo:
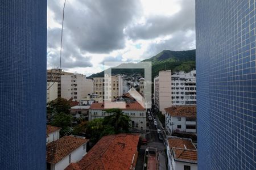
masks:
<svg viewBox="0 0 256 170"><path fill-rule="evenodd" d="M61 69L50 69L47 70L47 82L57 82L57 97L60 97L61 90L60 90L60 75L71 75L73 73L68 73L62 71Z"/></svg>

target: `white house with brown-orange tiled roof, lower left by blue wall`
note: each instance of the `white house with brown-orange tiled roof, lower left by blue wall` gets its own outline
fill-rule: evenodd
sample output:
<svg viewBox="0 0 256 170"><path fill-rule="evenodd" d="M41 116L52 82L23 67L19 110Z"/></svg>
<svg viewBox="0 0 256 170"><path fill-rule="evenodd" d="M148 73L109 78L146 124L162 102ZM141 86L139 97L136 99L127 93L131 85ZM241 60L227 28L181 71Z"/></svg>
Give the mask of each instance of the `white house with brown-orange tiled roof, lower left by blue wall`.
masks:
<svg viewBox="0 0 256 170"><path fill-rule="evenodd" d="M86 155L88 139L73 135L65 136L46 146L47 170L63 170Z"/></svg>

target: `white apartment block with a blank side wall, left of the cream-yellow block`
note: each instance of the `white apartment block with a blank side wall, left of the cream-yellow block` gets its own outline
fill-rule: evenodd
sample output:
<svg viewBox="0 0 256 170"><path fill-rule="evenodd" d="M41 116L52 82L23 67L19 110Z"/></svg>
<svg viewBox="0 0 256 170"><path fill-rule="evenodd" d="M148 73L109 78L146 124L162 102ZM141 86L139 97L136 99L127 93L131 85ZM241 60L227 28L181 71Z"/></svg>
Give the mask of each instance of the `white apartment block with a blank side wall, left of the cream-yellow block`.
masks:
<svg viewBox="0 0 256 170"><path fill-rule="evenodd" d="M86 79L85 75L61 75L61 97L64 99L81 100L93 93L93 80Z"/></svg>

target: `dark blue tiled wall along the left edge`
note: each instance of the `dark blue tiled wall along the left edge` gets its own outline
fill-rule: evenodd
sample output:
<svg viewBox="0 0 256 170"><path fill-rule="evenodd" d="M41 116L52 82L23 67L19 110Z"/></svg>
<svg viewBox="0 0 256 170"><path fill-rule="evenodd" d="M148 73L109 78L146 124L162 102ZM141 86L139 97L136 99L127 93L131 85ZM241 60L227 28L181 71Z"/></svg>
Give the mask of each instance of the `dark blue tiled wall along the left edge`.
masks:
<svg viewBox="0 0 256 170"><path fill-rule="evenodd" d="M46 169L47 1L0 1L0 169Z"/></svg>

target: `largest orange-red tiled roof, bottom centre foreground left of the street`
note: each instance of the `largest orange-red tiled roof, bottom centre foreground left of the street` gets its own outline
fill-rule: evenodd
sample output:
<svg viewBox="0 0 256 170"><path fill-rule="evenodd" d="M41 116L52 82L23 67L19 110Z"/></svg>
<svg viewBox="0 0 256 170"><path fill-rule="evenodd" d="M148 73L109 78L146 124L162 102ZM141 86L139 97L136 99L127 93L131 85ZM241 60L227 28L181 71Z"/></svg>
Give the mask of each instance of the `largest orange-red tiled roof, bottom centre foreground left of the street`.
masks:
<svg viewBox="0 0 256 170"><path fill-rule="evenodd" d="M77 165L72 164L65 170L135 168L138 142L138 134L118 134L102 137L77 163L79 169Z"/></svg>

